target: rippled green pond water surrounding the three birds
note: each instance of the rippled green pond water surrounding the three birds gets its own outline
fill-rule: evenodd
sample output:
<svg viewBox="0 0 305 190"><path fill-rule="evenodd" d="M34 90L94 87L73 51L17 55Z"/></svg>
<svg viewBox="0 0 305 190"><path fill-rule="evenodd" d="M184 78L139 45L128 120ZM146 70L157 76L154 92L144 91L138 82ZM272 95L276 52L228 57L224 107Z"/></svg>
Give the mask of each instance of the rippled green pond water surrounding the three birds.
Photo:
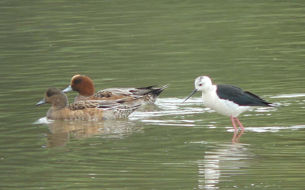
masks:
<svg viewBox="0 0 305 190"><path fill-rule="evenodd" d="M305 186L303 1L0 2L1 189ZM48 121L36 107L75 74L97 90L170 86L128 119ZM244 133L182 101L208 75L281 107ZM69 92L69 101L76 96Z"/></svg>

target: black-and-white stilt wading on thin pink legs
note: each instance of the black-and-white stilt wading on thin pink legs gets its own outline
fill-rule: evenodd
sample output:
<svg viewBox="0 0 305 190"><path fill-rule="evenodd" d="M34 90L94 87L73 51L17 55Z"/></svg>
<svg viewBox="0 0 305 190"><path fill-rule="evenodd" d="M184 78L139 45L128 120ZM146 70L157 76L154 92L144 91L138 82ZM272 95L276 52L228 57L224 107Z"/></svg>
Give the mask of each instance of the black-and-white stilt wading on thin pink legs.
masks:
<svg viewBox="0 0 305 190"><path fill-rule="evenodd" d="M275 103L269 103L249 91L244 91L239 87L229 84L216 84L213 85L211 79L208 76L200 76L195 79L195 89L191 94L183 101L183 103L189 99L194 93L201 91L203 104L216 111L221 115L229 116L234 127L237 131L234 119L244 130L244 126L241 124L237 116L257 107L274 107L278 106Z"/></svg>

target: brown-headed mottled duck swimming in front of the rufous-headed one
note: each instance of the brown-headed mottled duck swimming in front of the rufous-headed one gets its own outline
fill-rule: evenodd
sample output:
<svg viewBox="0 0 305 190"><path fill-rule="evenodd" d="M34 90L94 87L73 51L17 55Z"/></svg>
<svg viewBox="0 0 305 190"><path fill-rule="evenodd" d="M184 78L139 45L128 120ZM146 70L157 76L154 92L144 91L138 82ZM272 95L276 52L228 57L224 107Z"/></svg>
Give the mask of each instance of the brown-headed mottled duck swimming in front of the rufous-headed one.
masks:
<svg viewBox="0 0 305 190"><path fill-rule="evenodd" d="M85 100L68 104L68 97L58 88L49 88L44 99L36 105L50 103L47 112L48 119L115 119L128 117L135 109L140 107L121 104L118 100Z"/></svg>

